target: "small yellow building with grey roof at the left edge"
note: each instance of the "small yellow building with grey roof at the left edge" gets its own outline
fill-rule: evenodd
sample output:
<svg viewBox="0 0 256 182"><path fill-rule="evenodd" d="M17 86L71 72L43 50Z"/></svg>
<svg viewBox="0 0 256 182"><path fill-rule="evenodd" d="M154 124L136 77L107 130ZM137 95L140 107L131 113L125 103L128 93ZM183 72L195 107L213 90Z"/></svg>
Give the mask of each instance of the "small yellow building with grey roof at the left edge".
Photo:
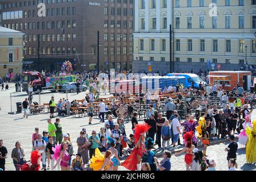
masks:
<svg viewBox="0 0 256 182"><path fill-rule="evenodd" d="M0 26L0 77L22 73L23 33Z"/></svg>

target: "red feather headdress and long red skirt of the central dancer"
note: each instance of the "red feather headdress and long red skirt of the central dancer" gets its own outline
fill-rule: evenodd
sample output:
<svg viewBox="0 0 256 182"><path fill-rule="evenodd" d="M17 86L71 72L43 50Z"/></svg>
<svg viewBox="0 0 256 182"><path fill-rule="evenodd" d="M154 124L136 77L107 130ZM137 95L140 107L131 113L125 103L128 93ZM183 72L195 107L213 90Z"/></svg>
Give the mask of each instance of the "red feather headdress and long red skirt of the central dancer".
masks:
<svg viewBox="0 0 256 182"><path fill-rule="evenodd" d="M150 129L151 126L147 125L147 123L138 124L134 128L134 139L135 144L137 146L138 142L141 142L141 134L147 132ZM121 164L121 166L125 167L126 169L129 169L130 171L137 170L137 155L142 156L145 152L144 143L140 143L139 146L135 147L133 149L133 152L131 152L131 155L128 156L128 158Z"/></svg>

